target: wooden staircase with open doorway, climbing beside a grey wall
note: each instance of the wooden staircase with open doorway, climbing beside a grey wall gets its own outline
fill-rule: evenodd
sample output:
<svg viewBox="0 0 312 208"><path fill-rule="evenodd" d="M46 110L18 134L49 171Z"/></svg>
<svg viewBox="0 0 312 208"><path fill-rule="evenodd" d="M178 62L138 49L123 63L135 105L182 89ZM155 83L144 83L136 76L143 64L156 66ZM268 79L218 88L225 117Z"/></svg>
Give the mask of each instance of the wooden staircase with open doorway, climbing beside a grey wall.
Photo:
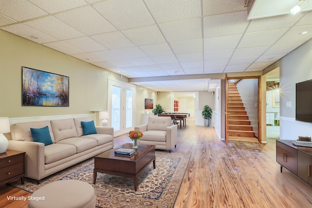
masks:
<svg viewBox="0 0 312 208"><path fill-rule="evenodd" d="M253 126L234 83L229 83L228 96L229 136L254 137Z"/></svg>

